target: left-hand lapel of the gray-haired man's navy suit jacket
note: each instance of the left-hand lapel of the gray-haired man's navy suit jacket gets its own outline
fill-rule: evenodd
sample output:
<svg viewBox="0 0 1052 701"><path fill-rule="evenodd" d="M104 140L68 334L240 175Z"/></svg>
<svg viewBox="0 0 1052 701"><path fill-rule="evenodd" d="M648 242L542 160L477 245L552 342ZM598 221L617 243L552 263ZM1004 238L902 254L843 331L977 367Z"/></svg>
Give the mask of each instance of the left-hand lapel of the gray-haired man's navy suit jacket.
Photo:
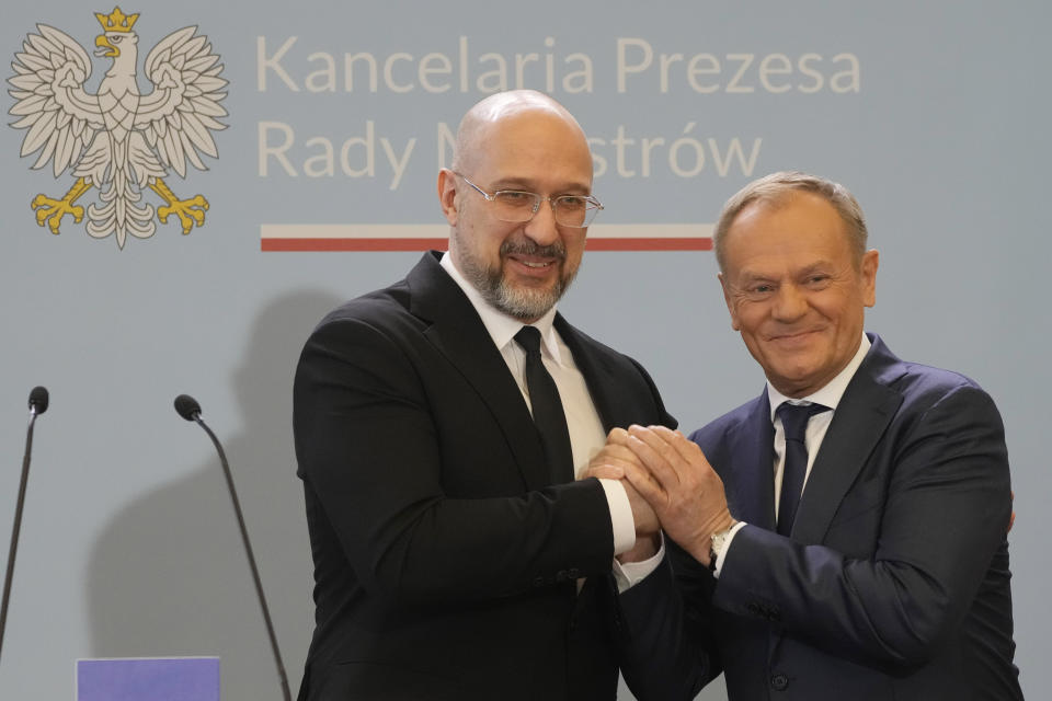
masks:
<svg viewBox="0 0 1052 701"><path fill-rule="evenodd" d="M775 530L775 427L766 388L746 405L742 421L728 432L728 437L724 459L730 464L723 472L734 476L728 494L732 513L739 520Z"/></svg>

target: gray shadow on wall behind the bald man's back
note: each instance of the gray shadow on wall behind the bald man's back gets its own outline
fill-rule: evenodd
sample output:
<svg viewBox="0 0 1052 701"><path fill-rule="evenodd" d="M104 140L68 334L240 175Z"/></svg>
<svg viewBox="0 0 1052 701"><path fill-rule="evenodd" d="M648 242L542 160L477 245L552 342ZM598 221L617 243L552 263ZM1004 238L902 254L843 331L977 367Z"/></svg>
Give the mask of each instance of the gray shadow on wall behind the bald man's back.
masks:
<svg viewBox="0 0 1052 701"><path fill-rule="evenodd" d="M267 304L249 337L235 389L243 428L224 444L271 606L293 696L313 630L310 544L293 449L293 377L315 324L340 299L294 292ZM174 418L174 416L173 416ZM208 459L184 479L118 512L94 547L88 573L91 655L218 655L222 699L281 699L219 459L187 425Z"/></svg>

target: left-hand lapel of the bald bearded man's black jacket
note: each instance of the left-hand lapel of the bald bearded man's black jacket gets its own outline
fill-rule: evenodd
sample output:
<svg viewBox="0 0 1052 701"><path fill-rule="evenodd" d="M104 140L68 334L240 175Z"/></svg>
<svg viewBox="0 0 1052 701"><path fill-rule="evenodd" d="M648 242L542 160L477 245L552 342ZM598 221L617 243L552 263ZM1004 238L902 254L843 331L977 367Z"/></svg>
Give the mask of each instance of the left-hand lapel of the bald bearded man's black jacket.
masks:
<svg viewBox="0 0 1052 701"><path fill-rule="evenodd" d="M544 447L515 379L464 291L435 252L407 276L410 312L432 322L424 336L459 370L493 413L515 456L527 490L551 484Z"/></svg>

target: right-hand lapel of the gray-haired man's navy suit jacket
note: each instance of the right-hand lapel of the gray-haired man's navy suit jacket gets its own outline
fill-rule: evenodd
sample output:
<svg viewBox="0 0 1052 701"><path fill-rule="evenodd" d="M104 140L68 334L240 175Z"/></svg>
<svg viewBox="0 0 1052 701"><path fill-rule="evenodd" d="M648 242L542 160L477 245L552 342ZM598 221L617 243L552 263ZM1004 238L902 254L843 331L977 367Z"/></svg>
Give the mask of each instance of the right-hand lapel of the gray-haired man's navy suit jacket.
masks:
<svg viewBox="0 0 1052 701"><path fill-rule="evenodd" d="M851 378L811 468L792 527L792 539L820 543L855 479L902 404L888 387L901 361L880 338Z"/></svg>

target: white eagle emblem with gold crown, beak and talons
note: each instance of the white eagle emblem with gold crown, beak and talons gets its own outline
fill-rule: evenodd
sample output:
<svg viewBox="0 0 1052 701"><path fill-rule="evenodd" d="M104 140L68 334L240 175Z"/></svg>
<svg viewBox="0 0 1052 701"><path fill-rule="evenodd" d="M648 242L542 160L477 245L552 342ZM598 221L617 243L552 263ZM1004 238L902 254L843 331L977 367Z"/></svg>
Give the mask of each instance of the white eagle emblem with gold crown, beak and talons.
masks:
<svg viewBox="0 0 1052 701"><path fill-rule="evenodd" d="M98 187L101 203L88 207L88 233L96 239L116 234L123 249L128 234L153 235L153 206L141 202L148 187L164 200L157 209L161 223L174 214L183 233L190 233L194 225L204 225L208 200L202 195L179 199L163 177L170 170L185 177L187 161L208 170L198 152L218 156L211 133L226 128L218 119L227 115L219 104L227 96L219 56L196 26L173 32L146 57L144 71L153 90L139 94L133 31L139 15L117 7L95 18L103 28L95 56L113 60L98 94L84 90L91 57L55 27L37 24L39 34L26 36L11 64L8 92L15 103L10 114L18 117L11 126L28 129L22 156L41 151L34 169L50 161L55 177L67 168L77 177L61 199L33 198L36 222L46 222L56 234L66 215L80 222L84 208L75 203Z"/></svg>

